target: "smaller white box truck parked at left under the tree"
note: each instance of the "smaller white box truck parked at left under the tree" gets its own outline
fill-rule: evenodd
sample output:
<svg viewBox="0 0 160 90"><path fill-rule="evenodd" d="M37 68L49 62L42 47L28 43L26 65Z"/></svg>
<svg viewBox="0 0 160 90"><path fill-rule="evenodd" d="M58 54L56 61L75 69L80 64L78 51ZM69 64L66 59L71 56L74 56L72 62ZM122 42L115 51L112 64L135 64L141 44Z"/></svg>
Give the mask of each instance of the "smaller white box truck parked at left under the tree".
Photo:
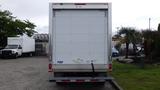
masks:
<svg viewBox="0 0 160 90"><path fill-rule="evenodd" d="M35 39L27 35L8 37L7 46L0 51L2 57L15 57L22 54L32 56L35 52Z"/></svg>

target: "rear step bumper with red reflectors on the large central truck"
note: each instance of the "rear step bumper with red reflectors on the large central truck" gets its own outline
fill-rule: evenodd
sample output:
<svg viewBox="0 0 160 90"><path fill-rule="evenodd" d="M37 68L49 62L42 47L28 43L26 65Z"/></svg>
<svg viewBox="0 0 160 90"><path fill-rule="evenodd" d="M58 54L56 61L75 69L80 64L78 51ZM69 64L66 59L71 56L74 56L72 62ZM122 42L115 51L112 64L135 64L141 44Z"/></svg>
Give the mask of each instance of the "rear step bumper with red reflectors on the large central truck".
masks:
<svg viewBox="0 0 160 90"><path fill-rule="evenodd" d="M113 80L112 77L54 77L50 82L105 82Z"/></svg>

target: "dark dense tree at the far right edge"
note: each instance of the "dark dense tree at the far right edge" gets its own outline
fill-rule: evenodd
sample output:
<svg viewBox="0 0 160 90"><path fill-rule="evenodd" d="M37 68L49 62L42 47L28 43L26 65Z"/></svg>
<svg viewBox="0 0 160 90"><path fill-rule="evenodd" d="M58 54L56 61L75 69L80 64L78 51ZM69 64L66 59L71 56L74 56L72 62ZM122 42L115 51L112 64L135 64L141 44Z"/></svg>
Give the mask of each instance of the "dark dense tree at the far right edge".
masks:
<svg viewBox="0 0 160 90"><path fill-rule="evenodd" d="M156 58L160 56L160 32L143 30L142 34L144 38L145 61L149 63L156 61Z"/></svg>

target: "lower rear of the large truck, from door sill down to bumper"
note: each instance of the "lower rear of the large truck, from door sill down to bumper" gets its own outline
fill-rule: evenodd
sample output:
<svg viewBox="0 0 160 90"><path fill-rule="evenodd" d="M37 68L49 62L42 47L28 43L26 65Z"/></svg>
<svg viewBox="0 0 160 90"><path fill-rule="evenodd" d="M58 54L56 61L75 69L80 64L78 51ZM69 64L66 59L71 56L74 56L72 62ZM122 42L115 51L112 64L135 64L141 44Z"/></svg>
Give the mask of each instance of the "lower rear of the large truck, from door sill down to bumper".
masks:
<svg viewBox="0 0 160 90"><path fill-rule="evenodd" d="M56 65L54 65L54 66L56 66ZM88 66L90 66L90 68ZM107 66L107 65L92 65L92 64L91 65L68 65L68 66L60 65L59 67L56 66L56 68L55 68L55 67L52 67L52 64L50 64L49 81L55 81L55 82L105 82L106 80L112 79L112 77L108 76L108 73L107 73L108 69L106 69L105 66ZM63 67L67 67L67 68L64 69Z"/></svg>

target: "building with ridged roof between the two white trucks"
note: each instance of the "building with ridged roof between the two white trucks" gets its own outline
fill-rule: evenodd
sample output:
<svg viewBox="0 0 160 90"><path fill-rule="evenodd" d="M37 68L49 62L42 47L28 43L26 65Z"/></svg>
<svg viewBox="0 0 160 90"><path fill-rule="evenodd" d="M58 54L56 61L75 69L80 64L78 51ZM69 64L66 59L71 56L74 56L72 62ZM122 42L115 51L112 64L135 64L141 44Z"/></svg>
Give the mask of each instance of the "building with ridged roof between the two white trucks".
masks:
<svg viewBox="0 0 160 90"><path fill-rule="evenodd" d="M33 36L35 39L35 55L46 56L49 50L49 36L48 34L35 34Z"/></svg>

